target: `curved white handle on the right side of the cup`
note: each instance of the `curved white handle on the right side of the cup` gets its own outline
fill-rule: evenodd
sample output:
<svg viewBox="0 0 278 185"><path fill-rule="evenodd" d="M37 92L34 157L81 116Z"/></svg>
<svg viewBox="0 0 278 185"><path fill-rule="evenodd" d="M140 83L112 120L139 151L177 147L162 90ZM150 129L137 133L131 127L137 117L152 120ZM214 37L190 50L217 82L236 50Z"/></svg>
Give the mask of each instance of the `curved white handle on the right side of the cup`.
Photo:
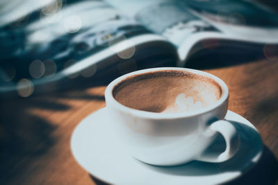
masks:
<svg viewBox="0 0 278 185"><path fill-rule="evenodd" d="M215 132L219 132L224 137L226 149L220 154L204 152L202 155L197 157L198 161L219 163L231 159L231 157L233 157L238 151L240 137L234 125L232 125L229 121L215 121L207 128L206 135L212 136Z"/></svg>

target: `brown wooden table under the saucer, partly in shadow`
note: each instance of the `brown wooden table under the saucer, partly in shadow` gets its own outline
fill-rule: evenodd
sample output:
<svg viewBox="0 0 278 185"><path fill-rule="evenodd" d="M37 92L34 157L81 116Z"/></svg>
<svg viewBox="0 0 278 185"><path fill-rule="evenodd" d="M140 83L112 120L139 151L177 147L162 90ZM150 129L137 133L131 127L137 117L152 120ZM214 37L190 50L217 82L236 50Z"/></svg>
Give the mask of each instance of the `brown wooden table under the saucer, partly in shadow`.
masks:
<svg viewBox="0 0 278 185"><path fill-rule="evenodd" d="M275 184L278 157L278 60L206 69L227 82L229 109L253 123L265 145L259 164L231 184ZM0 184L101 184L70 150L74 127L105 107L103 87L0 104ZM259 184L260 184L259 183Z"/></svg>

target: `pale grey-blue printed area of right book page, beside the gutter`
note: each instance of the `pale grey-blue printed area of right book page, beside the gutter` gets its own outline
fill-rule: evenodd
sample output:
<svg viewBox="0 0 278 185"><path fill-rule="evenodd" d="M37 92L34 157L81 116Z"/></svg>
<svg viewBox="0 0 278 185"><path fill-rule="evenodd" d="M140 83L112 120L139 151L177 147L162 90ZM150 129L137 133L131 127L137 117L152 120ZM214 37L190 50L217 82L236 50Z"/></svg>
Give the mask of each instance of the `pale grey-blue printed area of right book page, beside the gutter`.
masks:
<svg viewBox="0 0 278 185"><path fill-rule="evenodd" d="M144 25L154 33L163 35L177 48L195 33L219 32L208 22L193 15L179 1L106 1L122 10L126 15L134 17L139 24Z"/></svg>

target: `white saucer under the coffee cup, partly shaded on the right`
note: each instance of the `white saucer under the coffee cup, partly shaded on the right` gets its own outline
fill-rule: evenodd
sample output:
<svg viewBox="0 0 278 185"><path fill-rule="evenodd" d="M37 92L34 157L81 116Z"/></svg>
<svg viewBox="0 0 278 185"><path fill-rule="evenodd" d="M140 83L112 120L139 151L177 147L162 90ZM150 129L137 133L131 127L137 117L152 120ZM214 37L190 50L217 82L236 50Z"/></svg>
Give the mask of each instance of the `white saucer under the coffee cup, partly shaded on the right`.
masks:
<svg viewBox="0 0 278 185"><path fill-rule="evenodd" d="M240 132L241 144L233 158L219 164L200 161L173 167L144 164L131 157L117 139L106 108L79 123L72 134L72 153L88 173L111 184L222 184L254 166L263 148L259 132L249 121L231 111L225 118Z"/></svg>

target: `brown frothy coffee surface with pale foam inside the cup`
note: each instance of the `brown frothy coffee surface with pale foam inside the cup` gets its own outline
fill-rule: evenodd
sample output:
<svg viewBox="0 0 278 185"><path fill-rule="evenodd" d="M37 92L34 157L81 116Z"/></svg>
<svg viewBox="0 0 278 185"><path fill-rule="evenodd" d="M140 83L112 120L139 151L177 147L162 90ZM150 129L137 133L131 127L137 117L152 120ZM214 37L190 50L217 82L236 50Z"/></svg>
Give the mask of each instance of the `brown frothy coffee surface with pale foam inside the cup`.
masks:
<svg viewBox="0 0 278 185"><path fill-rule="evenodd" d="M131 76L113 89L113 96L119 103L147 112L186 111L183 107L189 105L182 103L192 99L194 105L206 107L215 103L221 94L220 85L211 78L183 71Z"/></svg>

